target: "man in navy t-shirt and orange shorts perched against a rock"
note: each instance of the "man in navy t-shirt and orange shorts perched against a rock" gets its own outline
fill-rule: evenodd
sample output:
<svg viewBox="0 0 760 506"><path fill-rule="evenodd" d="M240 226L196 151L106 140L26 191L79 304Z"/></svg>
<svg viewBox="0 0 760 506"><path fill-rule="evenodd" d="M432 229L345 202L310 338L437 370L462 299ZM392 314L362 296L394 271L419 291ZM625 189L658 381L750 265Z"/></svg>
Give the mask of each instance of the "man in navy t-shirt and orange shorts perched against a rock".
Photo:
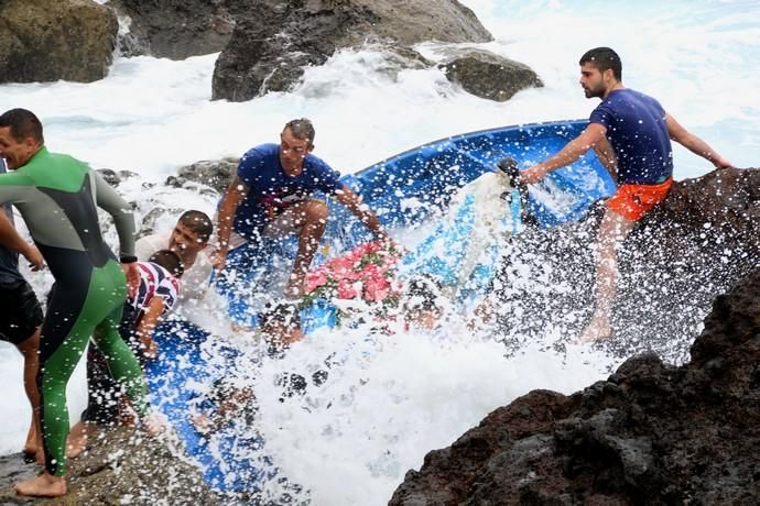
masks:
<svg viewBox="0 0 760 506"><path fill-rule="evenodd" d="M596 47L580 57L580 86L586 98L601 103L589 125L560 153L522 173L530 185L572 164L593 148L618 183L607 201L599 228L596 309L580 334L583 342L608 338L610 311L617 292L617 249L637 221L665 199L673 183L671 140L712 162L717 168L731 164L707 143L686 131L647 95L622 85L620 57L609 47Z"/></svg>

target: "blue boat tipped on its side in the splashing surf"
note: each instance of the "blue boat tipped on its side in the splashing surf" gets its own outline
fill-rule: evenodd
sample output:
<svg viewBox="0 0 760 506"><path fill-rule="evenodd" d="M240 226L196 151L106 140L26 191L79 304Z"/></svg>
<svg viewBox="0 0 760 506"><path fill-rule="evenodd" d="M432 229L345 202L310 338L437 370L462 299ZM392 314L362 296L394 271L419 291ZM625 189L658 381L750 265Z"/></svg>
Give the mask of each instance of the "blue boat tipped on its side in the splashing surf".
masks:
<svg viewBox="0 0 760 506"><path fill-rule="evenodd" d="M430 227L430 221L443 215L460 188L493 172L502 158L511 157L520 168L526 168L560 151L586 124L586 121L561 121L455 135L414 147L344 176L343 182L362 197L392 235L399 237ZM538 227L549 228L578 219L589 205L614 191L615 183L608 172L593 153L588 153L571 166L552 173L533 188L524 202L524 210L534 218ZM328 205L330 221L324 238L327 254L316 258L315 263L371 240L371 233L345 208L329 199ZM467 210L467 199L458 201L458 205L462 208L455 215L465 217L462 222L469 224L454 232L442 227L431 229L433 239L428 238L428 242L445 234L452 234L448 238L452 243L467 242L466 233L471 229L471 222L467 222L466 216L469 216L468 212L471 215L473 210ZM482 206L484 202L478 205ZM470 200L469 206L473 208L474 201ZM424 245L425 241L421 243L422 248ZM488 277L492 273L492 265L485 267ZM272 267L264 265L262 268ZM262 271L254 275L261 276ZM240 307L239 301L232 310L242 311L251 318L256 312L251 308ZM324 307L304 311L302 320L307 322L306 330L308 324L329 323ZM202 350L202 343L209 339L209 334L187 322L170 321L159 328L155 339L161 354L146 370L155 407L169 417L211 487L254 493L267 473L259 468L260 462L236 458L230 449L239 444L261 444L261 441L251 437L243 442L230 436L229 441L222 441L215 451L210 451L207 441L189 420L188 406L197 395L195 385L213 380L209 376L213 370L208 364L210 358ZM234 351L230 353L234 354ZM218 361L218 356L215 360Z"/></svg>

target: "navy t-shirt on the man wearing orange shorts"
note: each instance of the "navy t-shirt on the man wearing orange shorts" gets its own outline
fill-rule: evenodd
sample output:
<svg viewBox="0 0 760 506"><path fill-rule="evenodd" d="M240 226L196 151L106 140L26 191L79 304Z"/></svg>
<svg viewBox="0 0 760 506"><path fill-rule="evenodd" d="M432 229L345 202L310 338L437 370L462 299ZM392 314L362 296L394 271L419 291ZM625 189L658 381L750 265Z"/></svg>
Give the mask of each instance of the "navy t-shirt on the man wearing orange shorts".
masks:
<svg viewBox="0 0 760 506"><path fill-rule="evenodd" d="M616 89L594 109L589 121L607 128L618 160L619 184L653 185L673 175L665 110L652 97Z"/></svg>

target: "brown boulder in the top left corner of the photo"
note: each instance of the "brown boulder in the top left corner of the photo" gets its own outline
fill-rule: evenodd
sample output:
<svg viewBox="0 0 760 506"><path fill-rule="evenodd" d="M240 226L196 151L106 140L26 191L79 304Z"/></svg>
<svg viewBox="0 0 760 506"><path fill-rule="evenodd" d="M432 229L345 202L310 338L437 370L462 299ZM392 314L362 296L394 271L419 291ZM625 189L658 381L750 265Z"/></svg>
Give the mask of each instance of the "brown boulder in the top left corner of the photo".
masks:
<svg viewBox="0 0 760 506"><path fill-rule="evenodd" d="M111 64L118 23L91 0L0 2L0 82L90 82Z"/></svg>

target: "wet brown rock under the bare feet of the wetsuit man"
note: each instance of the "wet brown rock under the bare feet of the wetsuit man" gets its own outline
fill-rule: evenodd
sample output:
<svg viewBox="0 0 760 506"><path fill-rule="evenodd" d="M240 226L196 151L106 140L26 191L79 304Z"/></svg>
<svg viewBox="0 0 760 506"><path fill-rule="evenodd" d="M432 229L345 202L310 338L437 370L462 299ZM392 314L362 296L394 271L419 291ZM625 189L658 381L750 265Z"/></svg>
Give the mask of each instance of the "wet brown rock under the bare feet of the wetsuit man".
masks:
<svg viewBox="0 0 760 506"><path fill-rule="evenodd" d="M90 440L85 453L68 460L68 494L55 499L15 495L13 484L42 468L24 464L21 454L0 457L0 504L222 504L175 440L146 438L123 427L105 430Z"/></svg>

